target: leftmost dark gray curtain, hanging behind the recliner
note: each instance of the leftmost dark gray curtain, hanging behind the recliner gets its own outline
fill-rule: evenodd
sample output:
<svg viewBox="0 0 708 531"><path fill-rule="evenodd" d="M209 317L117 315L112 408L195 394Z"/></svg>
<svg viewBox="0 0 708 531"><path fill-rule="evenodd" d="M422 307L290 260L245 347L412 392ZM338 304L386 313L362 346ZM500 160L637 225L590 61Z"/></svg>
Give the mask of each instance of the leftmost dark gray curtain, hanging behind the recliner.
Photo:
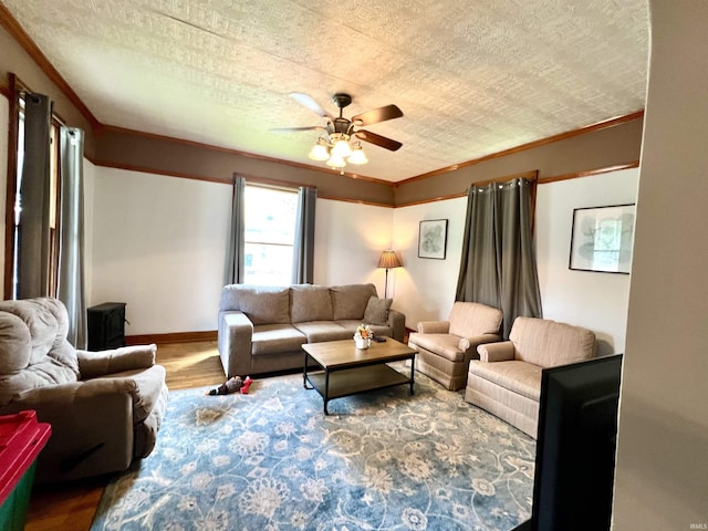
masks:
<svg viewBox="0 0 708 531"><path fill-rule="evenodd" d="M50 295L50 131L52 102L41 94L24 97L24 157L18 187L17 298Z"/></svg>

